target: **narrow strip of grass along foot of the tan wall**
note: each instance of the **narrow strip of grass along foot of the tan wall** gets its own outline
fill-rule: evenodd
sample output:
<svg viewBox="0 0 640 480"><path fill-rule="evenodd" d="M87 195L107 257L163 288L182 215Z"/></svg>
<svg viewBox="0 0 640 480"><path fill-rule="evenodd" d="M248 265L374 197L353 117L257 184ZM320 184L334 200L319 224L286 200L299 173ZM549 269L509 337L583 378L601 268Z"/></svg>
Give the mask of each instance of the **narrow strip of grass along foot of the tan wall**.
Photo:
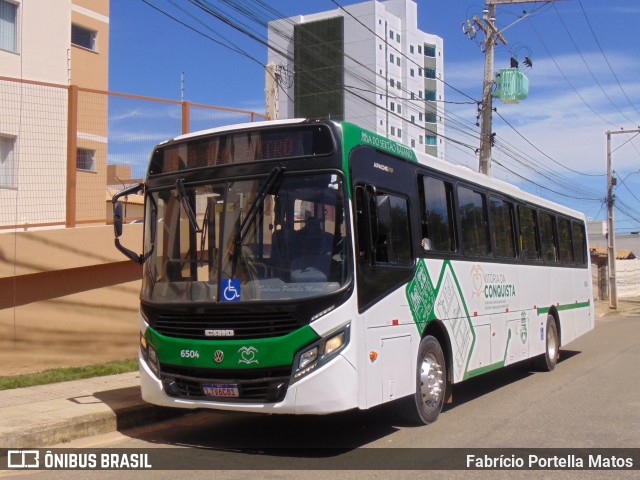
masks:
<svg viewBox="0 0 640 480"><path fill-rule="evenodd" d="M133 372L137 369L137 358L82 367L54 368L38 373L0 377L0 390L32 387L34 385L45 385L69 380L80 380L83 378L102 377L105 375L115 375L117 373Z"/></svg>

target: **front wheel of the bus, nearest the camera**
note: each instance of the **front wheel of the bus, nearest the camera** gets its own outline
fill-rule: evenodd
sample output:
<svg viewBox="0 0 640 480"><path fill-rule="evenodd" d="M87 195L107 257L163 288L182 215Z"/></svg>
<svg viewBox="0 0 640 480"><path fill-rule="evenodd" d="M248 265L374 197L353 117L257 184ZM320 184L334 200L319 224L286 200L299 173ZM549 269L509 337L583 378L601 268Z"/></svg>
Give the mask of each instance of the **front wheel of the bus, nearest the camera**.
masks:
<svg viewBox="0 0 640 480"><path fill-rule="evenodd" d="M427 425L438 419L447 387L447 363L438 340L427 335L420 341L416 391L405 399L405 417L412 424Z"/></svg>

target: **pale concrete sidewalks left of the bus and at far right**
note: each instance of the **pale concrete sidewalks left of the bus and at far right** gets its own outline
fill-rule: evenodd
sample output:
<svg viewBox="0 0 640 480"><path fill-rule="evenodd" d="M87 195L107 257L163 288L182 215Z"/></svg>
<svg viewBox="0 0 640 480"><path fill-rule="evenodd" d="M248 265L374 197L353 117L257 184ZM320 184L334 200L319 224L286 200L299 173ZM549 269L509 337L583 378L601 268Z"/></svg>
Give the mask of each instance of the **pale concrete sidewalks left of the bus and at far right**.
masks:
<svg viewBox="0 0 640 480"><path fill-rule="evenodd" d="M640 316L640 298L596 302L596 317ZM38 448L145 423L182 410L140 396L138 372L0 391L0 448Z"/></svg>

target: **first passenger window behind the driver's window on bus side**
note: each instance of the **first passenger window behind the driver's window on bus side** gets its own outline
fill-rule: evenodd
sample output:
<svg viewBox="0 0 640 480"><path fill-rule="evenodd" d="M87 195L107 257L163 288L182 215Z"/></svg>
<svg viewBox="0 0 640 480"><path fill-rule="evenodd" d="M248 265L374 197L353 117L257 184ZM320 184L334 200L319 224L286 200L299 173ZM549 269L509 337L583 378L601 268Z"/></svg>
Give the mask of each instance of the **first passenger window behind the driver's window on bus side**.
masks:
<svg viewBox="0 0 640 480"><path fill-rule="evenodd" d="M418 186L423 249L456 251L453 186L449 182L426 175Z"/></svg>

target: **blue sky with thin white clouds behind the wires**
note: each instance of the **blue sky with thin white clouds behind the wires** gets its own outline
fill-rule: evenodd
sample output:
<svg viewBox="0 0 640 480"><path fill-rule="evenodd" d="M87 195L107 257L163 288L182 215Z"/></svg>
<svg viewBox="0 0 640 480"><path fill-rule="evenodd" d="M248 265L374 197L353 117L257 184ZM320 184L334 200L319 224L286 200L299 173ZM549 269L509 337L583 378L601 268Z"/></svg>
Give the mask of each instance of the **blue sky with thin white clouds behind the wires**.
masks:
<svg viewBox="0 0 640 480"><path fill-rule="evenodd" d="M202 0L224 12L232 1ZM358 3L336 0L340 5ZM333 0L272 0L275 19L336 9ZM249 5L259 12L253 2ZM418 0L418 26L444 39L445 81L449 102L467 102L481 96L484 55L478 41L462 33L461 23L482 15L477 0ZM155 7L155 8L154 8ZM229 41L253 57L251 60L220 46L161 13L175 16L189 27L220 41ZM498 6L496 24L503 29L535 12L505 31L507 46L496 51L495 67L507 67L516 54L533 59L527 71L529 98L516 105L494 102L494 132L500 148L494 149L492 174L543 197L567 204L587 216L603 220L606 208L607 130L632 130L640 126L640 55L637 0L559 0L553 4L526 3ZM258 37L266 28L237 12ZM261 19L265 16L262 15ZM186 0L111 0L111 91L179 100L181 72L184 96L195 103L221 105L264 112L264 68L267 49L259 42L225 25ZM256 61L257 60L257 61ZM477 140L476 106L447 103L447 136L466 144ZM119 123L129 114L126 105L112 121L114 135L135 127ZM501 118L502 117L502 118ZM179 110L171 106L151 115L144 136L142 165L156 141L179 133ZM504 120L503 120L504 119ZM231 120L235 120L231 116ZM243 121L244 118L237 118ZM124 120L123 120L124 121ZM198 126L228 122L229 118L203 119ZM138 132L127 132L132 138ZM127 138L123 136L122 138ZM133 142L131 142L133 143ZM613 136L613 165L619 178L616 190L616 228L640 231L640 136ZM122 152L112 151L117 161ZM124 153L122 153L124 155ZM125 158L124 156L122 158ZM447 160L477 169L472 149L447 144ZM114 161L114 160L112 160ZM141 167L137 167L141 171ZM526 179L526 180L523 180Z"/></svg>

